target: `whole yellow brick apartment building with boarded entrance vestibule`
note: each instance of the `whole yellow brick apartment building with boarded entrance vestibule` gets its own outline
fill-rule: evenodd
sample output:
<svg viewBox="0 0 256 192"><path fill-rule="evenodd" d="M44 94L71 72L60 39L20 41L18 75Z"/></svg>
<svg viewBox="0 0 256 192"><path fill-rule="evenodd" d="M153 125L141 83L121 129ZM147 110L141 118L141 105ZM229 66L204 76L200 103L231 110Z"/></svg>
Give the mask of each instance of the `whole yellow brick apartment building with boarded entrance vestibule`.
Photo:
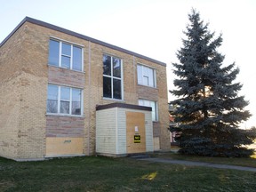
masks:
<svg viewBox="0 0 256 192"><path fill-rule="evenodd" d="M163 62L28 17L0 44L0 156L169 150L168 126Z"/></svg>

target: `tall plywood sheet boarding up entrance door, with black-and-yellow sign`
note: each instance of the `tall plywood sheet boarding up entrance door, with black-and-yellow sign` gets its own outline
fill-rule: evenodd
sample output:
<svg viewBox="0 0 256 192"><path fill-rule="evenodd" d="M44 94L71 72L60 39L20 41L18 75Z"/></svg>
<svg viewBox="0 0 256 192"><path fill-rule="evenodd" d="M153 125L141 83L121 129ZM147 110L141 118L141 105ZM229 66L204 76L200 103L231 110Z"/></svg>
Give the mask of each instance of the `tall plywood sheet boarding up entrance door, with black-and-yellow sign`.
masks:
<svg viewBox="0 0 256 192"><path fill-rule="evenodd" d="M140 135L140 143L134 143ZM126 150L128 154L146 152L145 114L126 111Z"/></svg>

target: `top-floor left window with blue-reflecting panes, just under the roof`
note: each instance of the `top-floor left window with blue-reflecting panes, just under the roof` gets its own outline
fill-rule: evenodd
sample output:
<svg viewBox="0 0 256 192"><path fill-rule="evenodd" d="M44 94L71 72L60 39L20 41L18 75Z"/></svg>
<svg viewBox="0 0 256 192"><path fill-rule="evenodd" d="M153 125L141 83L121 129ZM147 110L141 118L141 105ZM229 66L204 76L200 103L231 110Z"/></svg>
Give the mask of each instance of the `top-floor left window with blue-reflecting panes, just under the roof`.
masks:
<svg viewBox="0 0 256 192"><path fill-rule="evenodd" d="M73 44L67 44L50 39L49 65L83 70L83 49Z"/></svg>

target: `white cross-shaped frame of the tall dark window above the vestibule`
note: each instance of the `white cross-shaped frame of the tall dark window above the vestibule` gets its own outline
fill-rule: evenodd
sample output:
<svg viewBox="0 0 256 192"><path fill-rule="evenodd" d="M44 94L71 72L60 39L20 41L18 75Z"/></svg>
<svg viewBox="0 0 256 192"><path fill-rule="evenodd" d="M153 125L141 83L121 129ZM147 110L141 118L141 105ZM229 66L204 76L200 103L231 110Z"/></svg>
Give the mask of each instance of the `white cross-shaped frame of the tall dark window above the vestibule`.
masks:
<svg viewBox="0 0 256 192"><path fill-rule="evenodd" d="M123 60L119 57L116 57L116 56L112 56L112 55L109 55L109 54L103 54L103 57L104 56L109 56L111 57L111 76L108 76L108 75L104 75L103 74L103 77L106 76L106 77L110 77L111 78L111 98L108 98L108 97L103 97L104 100L119 100L119 99L116 99L114 98L114 86L113 86L113 79L118 79L118 80L121 80L121 99L120 100L124 100L124 76L123 76ZM116 77L116 76L113 76L113 58L116 58L116 59L119 59L121 60L121 78L120 77ZM102 89L103 90L103 89ZM104 92L103 92L103 95L104 95Z"/></svg>

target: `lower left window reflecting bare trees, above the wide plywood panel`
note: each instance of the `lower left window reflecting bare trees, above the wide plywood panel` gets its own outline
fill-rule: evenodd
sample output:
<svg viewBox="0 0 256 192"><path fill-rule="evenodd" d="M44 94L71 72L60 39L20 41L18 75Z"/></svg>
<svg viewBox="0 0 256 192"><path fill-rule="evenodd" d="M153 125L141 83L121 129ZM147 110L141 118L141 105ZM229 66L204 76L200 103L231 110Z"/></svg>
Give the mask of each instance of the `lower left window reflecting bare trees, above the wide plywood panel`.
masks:
<svg viewBox="0 0 256 192"><path fill-rule="evenodd" d="M47 113L82 115L82 90L48 84Z"/></svg>

